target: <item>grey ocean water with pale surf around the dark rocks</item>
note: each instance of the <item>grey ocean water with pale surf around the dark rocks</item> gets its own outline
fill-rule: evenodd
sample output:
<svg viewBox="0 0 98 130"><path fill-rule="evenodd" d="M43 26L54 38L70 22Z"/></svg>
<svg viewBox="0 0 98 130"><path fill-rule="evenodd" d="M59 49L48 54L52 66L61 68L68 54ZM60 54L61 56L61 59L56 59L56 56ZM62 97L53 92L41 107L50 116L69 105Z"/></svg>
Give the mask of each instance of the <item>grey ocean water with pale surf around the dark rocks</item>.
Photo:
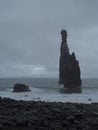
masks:
<svg viewBox="0 0 98 130"><path fill-rule="evenodd" d="M31 92L12 92L16 83L28 85ZM0 96L26 101L97 103L98 79L83 78L79 90L66 92L57 78L0 78Z"/></svg>

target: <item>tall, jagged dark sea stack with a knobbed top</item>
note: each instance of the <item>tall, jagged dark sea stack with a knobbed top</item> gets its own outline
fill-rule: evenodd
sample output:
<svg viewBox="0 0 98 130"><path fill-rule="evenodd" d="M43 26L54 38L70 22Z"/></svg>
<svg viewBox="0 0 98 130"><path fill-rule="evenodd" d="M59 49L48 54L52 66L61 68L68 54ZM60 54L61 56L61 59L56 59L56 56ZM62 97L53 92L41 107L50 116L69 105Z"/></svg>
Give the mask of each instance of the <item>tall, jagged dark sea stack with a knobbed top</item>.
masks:
<svg viewBox="0 0 98 130"><path fill-rule="evenodd" d="M79 62L76 60L75 53L70 54L67 45L67 31L61 31L62 42L60 48L60 63L59 63L59 83L64 84L64 87L80 87L81 73Z"/></svg>

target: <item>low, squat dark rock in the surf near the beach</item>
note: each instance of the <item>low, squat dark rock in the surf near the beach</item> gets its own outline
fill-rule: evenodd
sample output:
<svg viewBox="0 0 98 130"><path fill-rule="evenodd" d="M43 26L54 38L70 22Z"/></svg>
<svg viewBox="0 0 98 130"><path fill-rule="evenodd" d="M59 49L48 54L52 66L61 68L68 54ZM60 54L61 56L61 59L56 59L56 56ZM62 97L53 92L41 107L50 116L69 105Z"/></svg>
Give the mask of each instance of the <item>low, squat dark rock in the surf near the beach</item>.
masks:
<svg viewBox="0 0 98 130"><path fill-rule="evenodd" d="M30 92L29 86L25 84L15 84L13 87L13 92Z"/></svg>

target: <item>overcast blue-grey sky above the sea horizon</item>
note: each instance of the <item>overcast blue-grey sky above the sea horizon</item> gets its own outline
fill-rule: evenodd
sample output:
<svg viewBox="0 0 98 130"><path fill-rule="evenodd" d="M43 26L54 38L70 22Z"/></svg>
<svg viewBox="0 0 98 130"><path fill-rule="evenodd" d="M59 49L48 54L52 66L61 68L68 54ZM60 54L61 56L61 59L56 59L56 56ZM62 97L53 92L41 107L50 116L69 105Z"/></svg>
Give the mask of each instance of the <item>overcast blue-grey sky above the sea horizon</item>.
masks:
<svg viewBox="0 0 98 130"><path fill-rule="evenodd" d="M0 77L58 77L62 29L82 77L98 77L98 0L0 0Z"/></svg>

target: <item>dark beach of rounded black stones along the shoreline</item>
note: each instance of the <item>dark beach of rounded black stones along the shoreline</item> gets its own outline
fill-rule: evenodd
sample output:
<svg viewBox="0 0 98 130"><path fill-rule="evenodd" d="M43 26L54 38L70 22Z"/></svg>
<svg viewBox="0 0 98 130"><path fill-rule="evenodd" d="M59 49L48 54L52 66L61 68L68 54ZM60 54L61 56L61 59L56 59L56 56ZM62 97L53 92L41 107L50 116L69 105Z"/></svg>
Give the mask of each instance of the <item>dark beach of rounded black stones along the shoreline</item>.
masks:
<svg viewBox="0 0 98 130"><path fill-rule="evenodd" d="M0 98L2 130L98 130L98 104Z"/></svg>

